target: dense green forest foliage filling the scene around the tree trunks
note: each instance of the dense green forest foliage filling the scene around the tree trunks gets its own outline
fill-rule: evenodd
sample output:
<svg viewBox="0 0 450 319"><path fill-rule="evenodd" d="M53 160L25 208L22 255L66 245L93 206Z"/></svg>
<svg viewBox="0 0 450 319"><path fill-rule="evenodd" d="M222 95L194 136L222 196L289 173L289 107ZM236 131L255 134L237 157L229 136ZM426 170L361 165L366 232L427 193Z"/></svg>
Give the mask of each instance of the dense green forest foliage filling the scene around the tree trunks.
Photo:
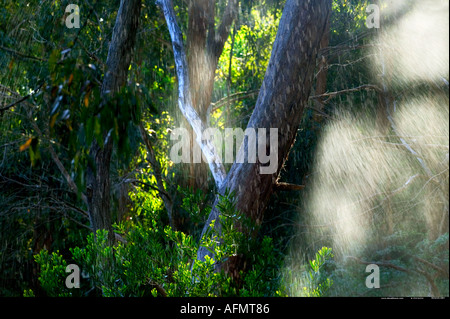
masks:
<svg viewBox="0 0 450 319"><path fill-rule="evenodd" d="M80 29L65 26L64 9L72 2L81 8ZM219 1L216 20L225 2ZM368 1L333 1L329 44L321 55L327 59L326 91L345 92L325 96L321 109L310 100L280 176L306 189L274 193L250 238L242 229L255 226L235 209L233 194L221 196L221 233L208 240L201 232L217 189L211 179L207 192L189 188L183 167L170 159L170 132L183 119L170 37L152 1L142 6L127 85L109 99L101 96L119 3L2 3L0 296L449 295L448 82L419 75L399 80L390 60L380 76L380 56L394 53L380 52L378 31L366 28ZM240 1L216 70L211 126L245 128L283 5ZM186 1L174 6L186 33ZM448 60L443 63L447 81ZM385 96L376 88L383 86L406 119L397 119L402 134L380 120ZM427 108L413 108L417 101ZM104 140L104 132L115 145L111 215L121 239L115 245L105 231L92 232L83 198L89 148L94 139ZM339 215L338 197L364 205L355 215ZM354 217L361 215L367 218ZM339 228L344 219L358 224ZM216 260L197 260L200 246ZM237 257L246 263L237 280L216 271L218 263ZM365 286L370 263L380 266L381 289ZM69 264L81 269L80 289L65 285Z"/></svg>

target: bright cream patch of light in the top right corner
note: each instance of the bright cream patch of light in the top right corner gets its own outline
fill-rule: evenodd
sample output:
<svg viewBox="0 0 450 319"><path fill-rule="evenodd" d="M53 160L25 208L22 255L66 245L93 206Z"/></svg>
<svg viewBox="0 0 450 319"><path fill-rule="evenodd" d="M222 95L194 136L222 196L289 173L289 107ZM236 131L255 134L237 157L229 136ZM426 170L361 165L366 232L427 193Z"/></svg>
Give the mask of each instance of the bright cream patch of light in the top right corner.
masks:
<svg viewBox="0 0 450 319"><path fill-rule="evenodd" d="M386 1L381 10L392 17L381 30L382 54L373 60L373 68L380 70L384 61L394 84L448 80L449 2L398 1L403 5L390 10L393 2Z"/></svg>

